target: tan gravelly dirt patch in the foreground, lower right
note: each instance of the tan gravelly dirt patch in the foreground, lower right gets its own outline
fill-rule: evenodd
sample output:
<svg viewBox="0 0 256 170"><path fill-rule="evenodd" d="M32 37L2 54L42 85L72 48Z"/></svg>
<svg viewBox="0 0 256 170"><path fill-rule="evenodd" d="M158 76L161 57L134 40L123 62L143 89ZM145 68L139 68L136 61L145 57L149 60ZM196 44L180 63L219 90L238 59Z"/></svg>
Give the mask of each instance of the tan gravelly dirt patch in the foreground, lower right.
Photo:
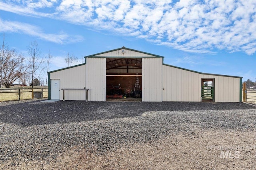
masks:
<svg viewBox="0 0 256 170"><path fill-rule="evenodd" d="M58 162L42 164L42 167L88 170L255 170L255 134L256 131L196 131L189 136L176 134L153 143L128 145L104 155L73 148L58 156ZM226 149L221 149L222 146ZM224 156L221 155L222 151ZM226 152L228 155L225 156Z"/></svg>

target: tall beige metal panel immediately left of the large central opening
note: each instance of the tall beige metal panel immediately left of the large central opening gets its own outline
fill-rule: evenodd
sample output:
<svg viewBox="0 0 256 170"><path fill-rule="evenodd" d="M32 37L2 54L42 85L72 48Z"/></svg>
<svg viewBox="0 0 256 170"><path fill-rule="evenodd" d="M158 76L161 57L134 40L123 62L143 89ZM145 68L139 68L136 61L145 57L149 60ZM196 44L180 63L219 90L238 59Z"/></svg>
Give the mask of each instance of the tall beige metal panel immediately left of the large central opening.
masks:
<svg viewBox="0 0 256 170"><path fill-rule="evenodd" d="M106 58L86 59L88 101L106 101Z"/></svg>

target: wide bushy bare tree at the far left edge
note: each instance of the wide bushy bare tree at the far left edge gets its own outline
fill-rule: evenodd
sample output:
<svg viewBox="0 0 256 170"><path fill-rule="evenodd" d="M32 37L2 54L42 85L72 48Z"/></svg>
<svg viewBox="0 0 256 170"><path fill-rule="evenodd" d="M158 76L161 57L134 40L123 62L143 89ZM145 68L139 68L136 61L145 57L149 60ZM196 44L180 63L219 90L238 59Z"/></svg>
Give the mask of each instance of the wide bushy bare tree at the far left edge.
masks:
<svg viewBox="0 0 256 170"><path fill-rule="evenodd" d="M26 72L25 58L14 49L10 50L4 43L0 49L0 87L10 88L11 84Z"/></svg>

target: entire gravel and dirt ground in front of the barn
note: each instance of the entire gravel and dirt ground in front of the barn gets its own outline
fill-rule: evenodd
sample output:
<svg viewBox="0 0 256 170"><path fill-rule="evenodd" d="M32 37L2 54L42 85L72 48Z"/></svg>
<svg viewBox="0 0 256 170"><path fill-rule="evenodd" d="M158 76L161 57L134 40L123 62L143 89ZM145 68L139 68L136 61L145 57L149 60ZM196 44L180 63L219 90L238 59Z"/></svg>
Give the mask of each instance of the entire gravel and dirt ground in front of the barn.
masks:
<svg viewBox="0 0 256 170"><path fill-rule="evenodd" d="M18 111L8 113L12 106L24 105L0 108L0 169L256 169L255 106L214 102L31 102L22 110L31 111L30 117L35 119L23 115L26 121L17 118ZM29 106L42 108L42 113L34 115L34 107ZM120 117L119 106L131 107L123 111L125 117ZM76 115L77 107L88 114ZM68 114L64 116L63 110ZM45 123L36 122L39 115L41 120L53 117ZM63 117L55 123L53 119L58 115Z"/></svg>

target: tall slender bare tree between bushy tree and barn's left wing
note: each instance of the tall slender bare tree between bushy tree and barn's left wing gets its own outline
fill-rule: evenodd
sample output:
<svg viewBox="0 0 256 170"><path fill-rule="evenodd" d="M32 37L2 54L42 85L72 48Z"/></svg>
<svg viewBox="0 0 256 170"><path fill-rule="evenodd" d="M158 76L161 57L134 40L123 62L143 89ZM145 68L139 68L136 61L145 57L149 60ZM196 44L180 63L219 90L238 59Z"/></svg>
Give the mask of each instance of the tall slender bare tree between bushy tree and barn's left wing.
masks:
<svg viewBox="0 0 256 170"><path fill-rule="evenodd" d="M38 44L36 41L33 41L32 43L30 43L30 46L28 46L27 48L28 48L28 54L30 55L30 58L28 59L28 62L29 62L28 68L32 76L31 85L32 87L34 87L34 78L37 72L43 66L44 59L40 58L41 51L38 48Z"/></svg>

